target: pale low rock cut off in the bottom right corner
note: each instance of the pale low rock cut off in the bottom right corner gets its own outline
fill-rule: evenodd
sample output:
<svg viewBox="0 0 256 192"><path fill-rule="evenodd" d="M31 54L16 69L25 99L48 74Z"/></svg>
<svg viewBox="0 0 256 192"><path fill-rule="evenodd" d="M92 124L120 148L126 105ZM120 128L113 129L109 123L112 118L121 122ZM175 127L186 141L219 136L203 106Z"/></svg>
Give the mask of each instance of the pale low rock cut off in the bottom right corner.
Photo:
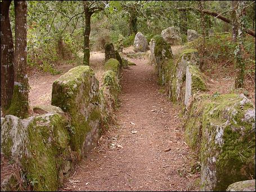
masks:
<svg viewBox="0 0 256 192"><path fill-rule="evenodd" d="M255 191L255 179L235 182L226 191Z"/></svg>

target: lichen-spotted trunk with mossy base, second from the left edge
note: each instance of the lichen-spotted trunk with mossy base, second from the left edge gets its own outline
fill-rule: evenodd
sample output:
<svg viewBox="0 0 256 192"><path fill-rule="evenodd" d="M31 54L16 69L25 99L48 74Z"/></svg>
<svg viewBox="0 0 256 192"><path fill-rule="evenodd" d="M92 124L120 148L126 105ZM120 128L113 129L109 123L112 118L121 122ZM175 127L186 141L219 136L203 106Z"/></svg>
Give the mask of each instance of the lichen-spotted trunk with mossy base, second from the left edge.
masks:
<svg viewBox="0 0 256 192"><path fill-rule="evenodd" d="M29 110L29 83L26 73L26 1L15 1L14 93L8 114L26 118Z"/></svg>

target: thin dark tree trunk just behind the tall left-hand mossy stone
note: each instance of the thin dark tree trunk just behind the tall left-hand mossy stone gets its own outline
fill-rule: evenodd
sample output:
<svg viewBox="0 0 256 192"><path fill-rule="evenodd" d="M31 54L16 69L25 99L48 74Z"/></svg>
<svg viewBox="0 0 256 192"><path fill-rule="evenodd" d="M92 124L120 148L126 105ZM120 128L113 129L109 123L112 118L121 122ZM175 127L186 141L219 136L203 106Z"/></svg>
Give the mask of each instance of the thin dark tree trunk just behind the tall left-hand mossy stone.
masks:
<svg viewBox="0 0 256 192"><path fill-rule="evenodd" d="M89 2L84 1L84 13L86 15L86 22L84 26L84 58L83 58L83 64L89 65L90 63L90 48L89 48L89 36L91 32L91 16L92 13L89 11Z"/></svg>

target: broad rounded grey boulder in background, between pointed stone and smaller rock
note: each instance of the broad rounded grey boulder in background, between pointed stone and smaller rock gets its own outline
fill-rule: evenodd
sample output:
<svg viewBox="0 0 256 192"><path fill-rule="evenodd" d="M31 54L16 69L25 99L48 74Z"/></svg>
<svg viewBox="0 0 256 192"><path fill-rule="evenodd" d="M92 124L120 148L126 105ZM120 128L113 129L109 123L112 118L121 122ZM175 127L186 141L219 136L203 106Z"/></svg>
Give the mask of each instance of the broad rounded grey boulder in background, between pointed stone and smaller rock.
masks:
<svg viewBox="0 0 256 192"><path fill-rule="evenodd" d="M164 38L167 43L170 45L180 45L181 37L179 36L179 32L175 27L168 27L161 32L161 36Z"/></svg>

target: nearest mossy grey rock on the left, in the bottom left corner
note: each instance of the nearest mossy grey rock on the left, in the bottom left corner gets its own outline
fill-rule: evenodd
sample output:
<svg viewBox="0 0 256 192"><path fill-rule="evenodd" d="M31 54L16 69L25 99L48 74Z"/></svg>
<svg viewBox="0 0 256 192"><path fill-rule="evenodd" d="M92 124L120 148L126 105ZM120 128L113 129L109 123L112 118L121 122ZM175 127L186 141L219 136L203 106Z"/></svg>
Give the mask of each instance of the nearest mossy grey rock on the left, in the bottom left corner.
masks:
<svg viewBox="0 0 256 192"><path fill-rule="evenodd" d="M70 155L67 126L68 121L57 113L2 119L1 153L20 165L34 191L55 191L60 186L58 172Z"/></svg>

